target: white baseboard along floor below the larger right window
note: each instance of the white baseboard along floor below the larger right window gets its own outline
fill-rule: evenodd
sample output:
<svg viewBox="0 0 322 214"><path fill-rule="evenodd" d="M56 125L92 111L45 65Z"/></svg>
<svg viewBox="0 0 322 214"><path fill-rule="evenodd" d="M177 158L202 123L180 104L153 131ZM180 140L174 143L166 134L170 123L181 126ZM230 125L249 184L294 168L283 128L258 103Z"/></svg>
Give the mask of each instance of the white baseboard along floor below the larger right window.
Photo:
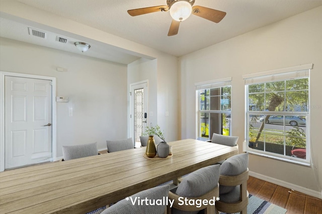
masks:
<svg viewBox="0 0 322 214"><path fill-rule="evenodd" d="M312 189L308 189L308 188L305 188L305 187L302 187L302 186L298 186L298 185L295 185L295 184L292 184L292 183L289 183L289 182L286 182L286 181L283 181L283 180L279 180L279 179L276 179L274 177L269 177L269 176L266 176L266 175L263 175L263 174L259 174L257 172L253 172L253 171L249 171L249 175L253 176L253 177L256 177L256 178L259 178L261 180L265 180L267 182L277 184L279 186L283 186L285 188L293 189L295 191L302 192L304 194L311 195L313 197L317 197L317 198L322 199L322 192L318 192L318 191L315 191L315 190L312 190Z"/></svg>

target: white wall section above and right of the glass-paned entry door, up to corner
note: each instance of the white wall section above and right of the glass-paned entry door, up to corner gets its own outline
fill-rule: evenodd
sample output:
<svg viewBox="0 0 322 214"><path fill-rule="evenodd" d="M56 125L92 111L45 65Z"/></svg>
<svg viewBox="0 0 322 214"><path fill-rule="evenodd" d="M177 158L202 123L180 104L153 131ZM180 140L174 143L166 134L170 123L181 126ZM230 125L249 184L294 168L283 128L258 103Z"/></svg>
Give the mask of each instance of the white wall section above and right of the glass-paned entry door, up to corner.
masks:
<svg viewBox="0 0 322 214"><path fill-rule="evenodd" d="M178 58L159 53L155 60L141 58L129 64L128 85L143 80L149 81L148 112L153 115L148 125L158 124L166 141L178 140Z"/></svg>

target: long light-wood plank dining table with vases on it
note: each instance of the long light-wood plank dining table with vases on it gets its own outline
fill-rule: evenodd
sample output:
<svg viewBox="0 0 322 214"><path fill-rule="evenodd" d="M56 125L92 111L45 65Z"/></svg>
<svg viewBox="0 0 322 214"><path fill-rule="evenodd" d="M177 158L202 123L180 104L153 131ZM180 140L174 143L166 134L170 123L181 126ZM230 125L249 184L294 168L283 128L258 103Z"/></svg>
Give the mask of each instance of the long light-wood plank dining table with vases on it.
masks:
<svg viewBox="0 0 322 214"><path fill-rule="evenodd" d="M86 213L238 153L236 147L185 139L173 156L145 147L0 172L0 213Z"/></svg>

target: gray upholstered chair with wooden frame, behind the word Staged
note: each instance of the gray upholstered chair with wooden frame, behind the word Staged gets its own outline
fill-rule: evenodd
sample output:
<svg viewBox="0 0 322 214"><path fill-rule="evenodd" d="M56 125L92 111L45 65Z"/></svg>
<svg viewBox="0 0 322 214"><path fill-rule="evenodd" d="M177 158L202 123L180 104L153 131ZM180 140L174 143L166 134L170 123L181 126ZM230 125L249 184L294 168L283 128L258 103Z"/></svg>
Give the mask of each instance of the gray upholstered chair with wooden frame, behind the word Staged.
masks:
<svg viewBox="0 0 322 214"><path fill-rule="evenodd" d="M220 165L217 164L203 167L185 176L178 188L175 189L175 193L169 192L169 199L174 199L174 204L172 207L167 206L168 213L198 213L203 209L205 213L214 213L214 204L217 203L215 199L219 195L219 171ZM182 199L179 200L179 197L184 197L187 201L205 199L210 203L200 204L200 207L197 207L196 204L182 204Z"/></svg>

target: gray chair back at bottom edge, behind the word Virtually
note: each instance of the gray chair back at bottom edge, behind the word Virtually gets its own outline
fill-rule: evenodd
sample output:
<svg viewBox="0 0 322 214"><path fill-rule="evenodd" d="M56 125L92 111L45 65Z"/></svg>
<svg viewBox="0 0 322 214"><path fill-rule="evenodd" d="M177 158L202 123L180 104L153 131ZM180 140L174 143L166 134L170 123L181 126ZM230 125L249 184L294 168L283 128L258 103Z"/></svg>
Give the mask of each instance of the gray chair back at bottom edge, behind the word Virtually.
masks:
<svg viewBox="0 0 322 214"><path fill-rule="evenodd" d="M125 214L125 213L146 213L146 214L164 214L166 211L166 204L160 205L142 205L138 203L139 199L149 199L151 201L164 200L169 195L169 185L156 186L150 189L140 191L129 196L129 200L123 199L105 209L101 214ZM135 200L136 198L136 200ZM133 201L134 204L133 204Z"/></svg>

